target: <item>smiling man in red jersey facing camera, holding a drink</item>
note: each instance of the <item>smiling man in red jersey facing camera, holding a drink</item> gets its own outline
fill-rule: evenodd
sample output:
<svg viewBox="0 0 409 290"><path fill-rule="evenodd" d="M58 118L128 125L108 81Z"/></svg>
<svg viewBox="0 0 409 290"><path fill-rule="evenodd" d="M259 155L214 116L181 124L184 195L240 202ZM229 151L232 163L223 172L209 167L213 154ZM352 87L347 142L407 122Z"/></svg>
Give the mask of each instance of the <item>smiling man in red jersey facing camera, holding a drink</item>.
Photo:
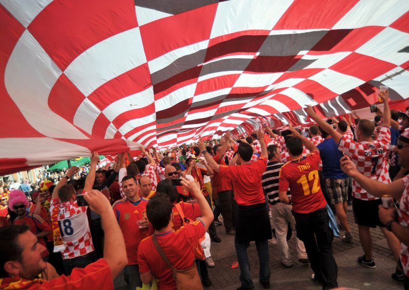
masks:
<svg viewBox="0 0 409 290"><path fill-rule="evenodd" d="M134 176L125 176L122 179L125 199L112 205L118 224L125 238L126 255L128 264L124 269L125 281L128 290L142 287L138 265L138 246L145 237L150 236L153 230L149 229L146 218L146 205L148 200L139 196L138 182Z"/></svg>

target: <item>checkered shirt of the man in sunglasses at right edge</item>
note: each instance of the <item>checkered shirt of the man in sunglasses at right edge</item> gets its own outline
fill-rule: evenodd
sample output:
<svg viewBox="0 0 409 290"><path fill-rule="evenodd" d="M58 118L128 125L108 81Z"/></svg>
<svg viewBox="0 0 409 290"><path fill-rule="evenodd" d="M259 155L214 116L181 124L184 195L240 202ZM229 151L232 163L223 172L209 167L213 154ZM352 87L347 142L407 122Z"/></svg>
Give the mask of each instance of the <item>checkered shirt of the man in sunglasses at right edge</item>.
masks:
<svg viewBox="0 0 409 290"><path fill-rule="evenodd" d="M405 184L405 190L403 190L399 202L398 221L402 227L407 228L409 226L409 175L403 177L402 182ZM409 247L403 243L400 243L400 247L400 260L403 265L403 272L406 277L409 277Z"/></svg>

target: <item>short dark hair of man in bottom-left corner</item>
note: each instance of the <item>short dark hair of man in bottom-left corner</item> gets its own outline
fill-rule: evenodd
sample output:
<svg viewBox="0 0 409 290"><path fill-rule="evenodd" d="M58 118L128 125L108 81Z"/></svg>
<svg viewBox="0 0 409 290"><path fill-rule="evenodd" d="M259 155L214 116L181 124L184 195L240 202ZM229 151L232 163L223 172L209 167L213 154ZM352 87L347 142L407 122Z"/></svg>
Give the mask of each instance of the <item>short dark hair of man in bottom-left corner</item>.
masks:
<svg viewBox="0 0 409 290"><path fill-rule="evenodd" d="M9 276L4 269L6 262L21 262L21 254L24 248L17 243L17 239L20 234L27 232L29 229L30 227L27 224L0 228L0 249L2 249L2 254L0 255L0 277L5 278Z"/></svg>

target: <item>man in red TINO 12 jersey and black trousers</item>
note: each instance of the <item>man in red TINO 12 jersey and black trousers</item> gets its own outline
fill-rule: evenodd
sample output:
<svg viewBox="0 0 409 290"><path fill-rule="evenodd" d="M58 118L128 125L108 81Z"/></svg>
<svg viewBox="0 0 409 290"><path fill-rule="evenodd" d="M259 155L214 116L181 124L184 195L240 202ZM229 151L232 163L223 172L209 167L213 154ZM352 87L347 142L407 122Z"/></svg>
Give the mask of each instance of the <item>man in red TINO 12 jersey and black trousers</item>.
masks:
<svg viewBox="0 0 409 290"><path fill-rule="evenodd" d="M332 255L332 232L328 225L328 211L320 186L318 168L320 151L316 146L290 128L292 134L286 139L290 162L280 171L279 197L285 204L292 203L296 219L297 237L304 242L310 260L314 282L323 289L337 287L338 267ZM302 156L303 144L311 152ZM291 200L287 197L290 188Z"/></svg>

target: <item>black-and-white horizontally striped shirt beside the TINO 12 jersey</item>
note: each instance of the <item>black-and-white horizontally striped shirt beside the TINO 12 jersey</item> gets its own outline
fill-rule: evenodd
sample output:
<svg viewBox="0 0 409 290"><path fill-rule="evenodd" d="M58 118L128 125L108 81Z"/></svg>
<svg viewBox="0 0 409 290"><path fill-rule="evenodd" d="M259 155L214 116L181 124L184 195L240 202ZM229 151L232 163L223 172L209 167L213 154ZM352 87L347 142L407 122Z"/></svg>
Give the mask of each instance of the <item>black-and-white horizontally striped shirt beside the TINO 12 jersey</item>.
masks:
<svg viewBox="0 0 409 290"><path fill-rule="evenodd" d="M261 185L263 186L264 194L267 195L270 204L280 202L278 196L279 173L281 166L283 165L284 163L279 161L270 161L267 163L267 168L263 173ZM290 192L287 191L287 197L289 198L290 196Z"/></svg>

